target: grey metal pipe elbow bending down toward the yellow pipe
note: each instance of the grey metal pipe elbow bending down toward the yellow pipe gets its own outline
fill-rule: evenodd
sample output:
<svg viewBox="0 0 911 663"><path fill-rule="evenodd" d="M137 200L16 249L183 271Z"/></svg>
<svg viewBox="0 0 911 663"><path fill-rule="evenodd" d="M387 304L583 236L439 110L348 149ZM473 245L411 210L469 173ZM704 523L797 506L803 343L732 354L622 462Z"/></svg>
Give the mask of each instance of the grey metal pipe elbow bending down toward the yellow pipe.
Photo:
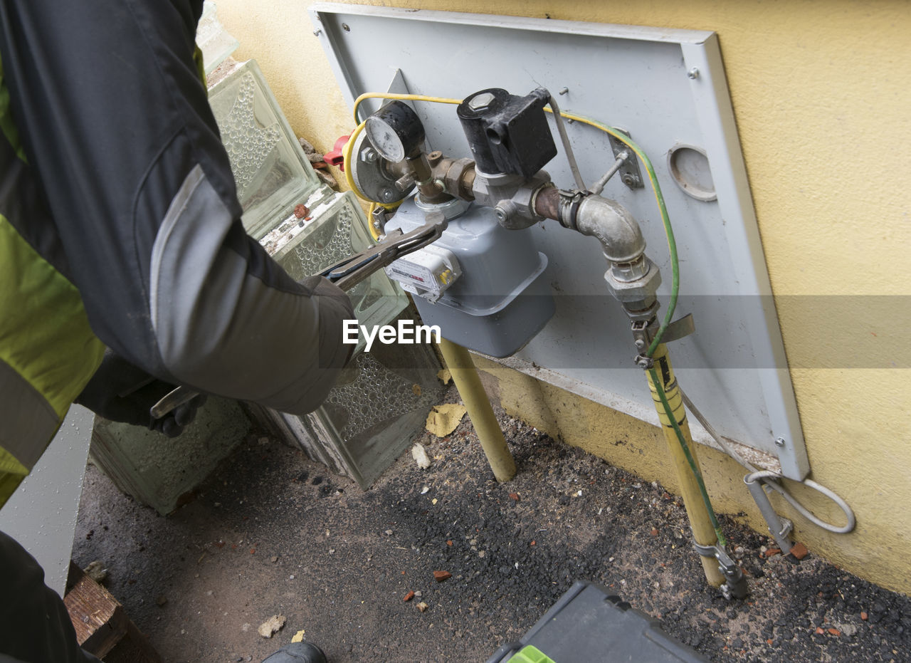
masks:
<svg viewBox="0 0 911 663"><path fill-rule="evenodd" d="M598 238L611 263L634 263L645 253L639 222L619 202L587 196L579 205L576 227Z"/></svg>

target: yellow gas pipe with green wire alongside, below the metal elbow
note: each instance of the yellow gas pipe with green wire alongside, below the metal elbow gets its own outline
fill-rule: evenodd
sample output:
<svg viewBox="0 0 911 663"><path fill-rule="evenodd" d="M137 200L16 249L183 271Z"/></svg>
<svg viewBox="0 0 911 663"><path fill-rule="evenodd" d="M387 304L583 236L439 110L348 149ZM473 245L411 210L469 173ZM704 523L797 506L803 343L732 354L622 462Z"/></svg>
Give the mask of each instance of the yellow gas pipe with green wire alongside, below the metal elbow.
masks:
<svg viewBox="0 0 911 663"><path fill-rule="evenodd" d="M677 427L683 434L689 448L692 460L696 468L699 468L699 458L696 456L696 445L693 444L690 434L690 424L686 420L686 410L683 409L683 400L681 399L680 388L677 385L677 378L674 377L673 368L670 367L670 358L668 357L668 348L661 343L652 355L655 365L655 374L661 381L661 388L664 390L664 397L670 405L670 413L673 415ZM690 527L692 529L693 539L700 545L714 545L718 541L715 534L714 526L711 523L709 511L702 501L702 495L699 489L699 483L696 476L691 471L690 463L687 460L686 452L681 447L681 442L677 437L677 431L668 418L668 414L661 402L658 388L656 388L650 371L646 371L649 378L649 388L651 390L651 399L655 403L655 409L658 411L658 418L661 421L661 429L664 430L664 438L668 441L668 450L670 458L674 462L674 469L677 471L677 481L680 483L681 496L683 505L686 507L687 516L690 518ZM706 580L715 587L724 584L726 578L722 574L718 560L714 557L700 555L702 568L705 570Z"/></svg>

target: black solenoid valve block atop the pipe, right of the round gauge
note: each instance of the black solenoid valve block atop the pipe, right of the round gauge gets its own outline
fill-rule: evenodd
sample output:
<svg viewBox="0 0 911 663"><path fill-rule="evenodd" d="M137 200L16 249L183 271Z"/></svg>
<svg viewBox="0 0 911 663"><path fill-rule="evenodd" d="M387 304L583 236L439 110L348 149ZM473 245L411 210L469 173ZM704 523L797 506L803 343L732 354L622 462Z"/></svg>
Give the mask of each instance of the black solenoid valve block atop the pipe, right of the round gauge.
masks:
<svg viewBox="0 0 911 663"><path fill-rule="evenodd" d="M550 95L537 88L525 97L482 89L457 109L477 170L531 177L557 156L544 107Z"/></svg>

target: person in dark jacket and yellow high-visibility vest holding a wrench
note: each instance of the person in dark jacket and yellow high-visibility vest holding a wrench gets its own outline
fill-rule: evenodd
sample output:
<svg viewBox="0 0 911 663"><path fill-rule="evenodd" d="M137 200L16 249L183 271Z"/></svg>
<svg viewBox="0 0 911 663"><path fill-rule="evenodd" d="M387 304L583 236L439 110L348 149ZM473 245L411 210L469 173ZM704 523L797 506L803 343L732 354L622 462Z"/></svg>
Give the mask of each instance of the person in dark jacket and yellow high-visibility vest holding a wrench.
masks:
<svg viewBox="0 0 911 663"><path fill-rule="evenodd" d="M348 355L347 296L295 282L241 226L201 11L0 0L0 505L76 399L170 434L193 405L148 409L174 385L304 413ZM287 354L288 338L309 351ZM19 551L0 538L0 661L84 660L71 627L57 641L62 604L32 601L34 578L5 565ZM7 622L29 609L47 616L29 633Z"/></svg>

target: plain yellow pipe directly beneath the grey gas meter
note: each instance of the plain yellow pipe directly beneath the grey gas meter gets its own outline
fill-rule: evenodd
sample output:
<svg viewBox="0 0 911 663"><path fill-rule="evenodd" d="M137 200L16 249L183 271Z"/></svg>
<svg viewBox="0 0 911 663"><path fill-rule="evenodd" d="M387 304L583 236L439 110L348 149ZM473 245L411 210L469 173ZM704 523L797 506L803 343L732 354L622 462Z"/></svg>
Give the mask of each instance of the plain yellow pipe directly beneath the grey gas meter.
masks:
<svg viewBox="0 0 911 663"><path fill-rule="evenodd" d="M445 338L440 339L439 347L455 387L458 388L462 402L468 410L468 417L475 426L477 439L481 440L481 448L484 449L490 469L494 471L496 481L509 481L516 476L516 461L509 452L503 430L500 430L494 409L490 406L490 400L487 399L481 385L475 362L471 360L466 348L457 346Z"/></svg>

